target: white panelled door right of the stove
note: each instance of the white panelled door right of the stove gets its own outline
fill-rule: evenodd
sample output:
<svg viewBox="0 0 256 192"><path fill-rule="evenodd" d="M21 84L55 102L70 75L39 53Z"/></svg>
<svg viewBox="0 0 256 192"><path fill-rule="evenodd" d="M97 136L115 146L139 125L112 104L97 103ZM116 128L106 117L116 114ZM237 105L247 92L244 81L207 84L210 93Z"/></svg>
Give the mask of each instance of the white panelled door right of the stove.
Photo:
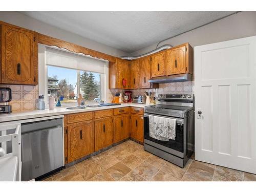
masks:
<svg viewBox="0 0 256 192"><path fill-rule="evenodd" d="M195 47L196 160L256 174L255 83L256 36Z"/></svg>

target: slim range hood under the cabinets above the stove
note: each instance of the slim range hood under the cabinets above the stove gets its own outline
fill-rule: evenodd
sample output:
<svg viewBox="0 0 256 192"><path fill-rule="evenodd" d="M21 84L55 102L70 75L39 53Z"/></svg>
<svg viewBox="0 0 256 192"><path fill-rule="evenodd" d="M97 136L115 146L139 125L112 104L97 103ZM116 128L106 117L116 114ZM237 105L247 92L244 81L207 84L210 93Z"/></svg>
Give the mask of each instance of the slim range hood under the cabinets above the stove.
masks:
<svg viewBox="0 0 256 192"><path fill-rule="evenodd" d="M178 74L178 75L169 75L163 77L153 77L148 82L154 83L166 83L166 82L182 82L182 81L191 81L192 75L189 73Z"/></svg>

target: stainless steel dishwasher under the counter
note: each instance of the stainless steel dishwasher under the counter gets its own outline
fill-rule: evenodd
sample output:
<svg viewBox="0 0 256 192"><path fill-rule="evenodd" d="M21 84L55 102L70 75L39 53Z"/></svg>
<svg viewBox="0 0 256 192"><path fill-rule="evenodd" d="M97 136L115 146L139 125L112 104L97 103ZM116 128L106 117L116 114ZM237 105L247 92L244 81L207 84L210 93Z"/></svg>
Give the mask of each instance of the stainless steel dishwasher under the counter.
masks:
<svg viewBox="0 0 256 192"><path fill-rule="evenodd" d="M22 181L62 167L62 118L22 123Z"/></svg>

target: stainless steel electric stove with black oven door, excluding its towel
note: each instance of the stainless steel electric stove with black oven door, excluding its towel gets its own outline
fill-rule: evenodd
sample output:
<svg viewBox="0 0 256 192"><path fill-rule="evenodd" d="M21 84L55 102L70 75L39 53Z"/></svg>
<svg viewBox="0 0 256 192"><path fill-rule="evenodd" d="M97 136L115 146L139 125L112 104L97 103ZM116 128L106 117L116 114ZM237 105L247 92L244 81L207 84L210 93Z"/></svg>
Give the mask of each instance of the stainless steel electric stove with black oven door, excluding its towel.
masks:
<svg viewBox="0 0 256 192"><path fill-rule="evenodd" d="M176 137L162 141L150 136L149 116L176 119ZM144 108L144 150L180 167L194 152L194 95L159 94L156 105Z"/></svg>

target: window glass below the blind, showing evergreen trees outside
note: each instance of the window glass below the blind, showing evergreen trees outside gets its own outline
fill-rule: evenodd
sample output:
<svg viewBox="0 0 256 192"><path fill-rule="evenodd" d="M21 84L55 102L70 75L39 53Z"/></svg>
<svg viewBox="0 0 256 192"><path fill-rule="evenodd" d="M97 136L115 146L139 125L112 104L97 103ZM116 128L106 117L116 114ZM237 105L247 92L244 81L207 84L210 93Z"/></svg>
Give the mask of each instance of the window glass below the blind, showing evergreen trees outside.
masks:
<svg viewBox="0 0 256 192"><path fill-rule="evenodd" d="M79 94L87 101L101 100L100 73L48 66L48 81L48 95L62 103L77 102Z"/></svg>

